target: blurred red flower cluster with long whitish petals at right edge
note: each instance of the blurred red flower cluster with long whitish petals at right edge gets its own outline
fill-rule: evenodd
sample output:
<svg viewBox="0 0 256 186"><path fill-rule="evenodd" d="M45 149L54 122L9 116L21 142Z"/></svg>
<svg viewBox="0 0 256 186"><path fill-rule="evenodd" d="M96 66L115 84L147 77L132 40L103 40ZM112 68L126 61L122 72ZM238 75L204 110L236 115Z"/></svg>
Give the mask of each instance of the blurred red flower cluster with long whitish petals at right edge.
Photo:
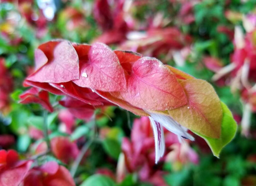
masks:
<svg viewBox="0 0 256 186"><path fill-rule="evenodd" d="M242 134L250 135L250 113L255 112L255 82L256 82L256 19L255 15L226 12L228 19L243 21L244 29L236 26L234 30L234 53L231 55L231 64L216 71L213 80L218 80L231 74L231 91L238 91L244 102L241 121Z"/></svg>

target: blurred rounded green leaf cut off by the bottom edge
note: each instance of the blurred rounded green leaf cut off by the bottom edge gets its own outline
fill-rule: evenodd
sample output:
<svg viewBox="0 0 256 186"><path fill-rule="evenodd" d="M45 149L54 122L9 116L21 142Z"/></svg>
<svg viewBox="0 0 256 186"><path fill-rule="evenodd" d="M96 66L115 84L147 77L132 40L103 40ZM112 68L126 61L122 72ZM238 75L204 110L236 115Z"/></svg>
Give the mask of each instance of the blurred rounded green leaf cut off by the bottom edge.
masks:
<svg viewBox="0 0 256 186"><path fill-rule="evenodd" d="M116 185L115 182L107 177L106 175L95 174L91 175L88 179L85 180L80 186L113 186Z"/></svg>

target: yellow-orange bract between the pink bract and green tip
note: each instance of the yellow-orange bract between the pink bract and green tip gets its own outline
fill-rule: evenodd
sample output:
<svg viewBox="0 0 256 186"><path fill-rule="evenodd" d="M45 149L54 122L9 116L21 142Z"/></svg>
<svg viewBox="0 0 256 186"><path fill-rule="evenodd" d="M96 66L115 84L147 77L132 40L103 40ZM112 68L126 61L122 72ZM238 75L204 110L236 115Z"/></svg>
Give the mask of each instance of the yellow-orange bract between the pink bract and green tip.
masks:
<svg viewBox="0 0 256 186"><path fill-rule="evenodd" d="M222 108L213 86L201 79L187 79L180 84L188 97L188 104L168 110L170 117L189 130L219 138Z"/></svg>

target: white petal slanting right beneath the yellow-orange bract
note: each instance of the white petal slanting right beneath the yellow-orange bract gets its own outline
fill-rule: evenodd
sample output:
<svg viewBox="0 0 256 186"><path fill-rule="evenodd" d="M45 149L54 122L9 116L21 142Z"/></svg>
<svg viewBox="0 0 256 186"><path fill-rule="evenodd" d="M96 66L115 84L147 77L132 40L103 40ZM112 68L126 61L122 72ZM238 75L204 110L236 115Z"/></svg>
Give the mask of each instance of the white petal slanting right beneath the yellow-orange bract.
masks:
<svg viewBox="0 0 256 186"><path fill-rule="evenodd" d="M161 123L161 125L167 128L168 131L171 131L172 133L175 133L175 135L181 136L182 138L194 141L193 136L186 132L187 129L184 126L181 126L175 120L173 120L173 118L158 113L150 113L150 115L153 118L153 120L155 120L158 123Z"/></svg>

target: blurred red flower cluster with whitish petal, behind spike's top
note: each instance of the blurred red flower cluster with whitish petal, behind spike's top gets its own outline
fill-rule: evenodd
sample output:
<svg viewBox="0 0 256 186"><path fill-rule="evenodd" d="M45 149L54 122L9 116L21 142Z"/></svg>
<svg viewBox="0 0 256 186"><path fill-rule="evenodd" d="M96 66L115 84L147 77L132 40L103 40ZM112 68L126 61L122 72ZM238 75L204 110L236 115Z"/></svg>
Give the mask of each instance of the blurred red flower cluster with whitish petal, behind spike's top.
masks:
<svg viewBox="0 0 256 186"><path fill-rule="evenodd" d="M175 27L152 28L145 33L130 32L128 38L129 40L122 43L119 49L132 50L155 58L158 58L161 54L167 54L166 60L176 50L181 50L192 42L189 35L184 35Z"/></svg>

